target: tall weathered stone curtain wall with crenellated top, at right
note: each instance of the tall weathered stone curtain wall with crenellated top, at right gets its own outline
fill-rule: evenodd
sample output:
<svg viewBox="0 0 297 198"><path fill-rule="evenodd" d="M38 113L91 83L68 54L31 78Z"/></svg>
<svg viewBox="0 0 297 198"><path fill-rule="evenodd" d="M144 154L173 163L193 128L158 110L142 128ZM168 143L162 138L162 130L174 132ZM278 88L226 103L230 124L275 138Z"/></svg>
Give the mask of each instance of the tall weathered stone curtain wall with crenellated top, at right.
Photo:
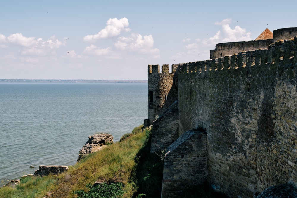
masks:
<svg viewBox="0 0 297 198"><path fill-rule="evenodd" d="M297 182L296 46L181 65L179 133L206 128L208 182L231 197Z"/></svg>

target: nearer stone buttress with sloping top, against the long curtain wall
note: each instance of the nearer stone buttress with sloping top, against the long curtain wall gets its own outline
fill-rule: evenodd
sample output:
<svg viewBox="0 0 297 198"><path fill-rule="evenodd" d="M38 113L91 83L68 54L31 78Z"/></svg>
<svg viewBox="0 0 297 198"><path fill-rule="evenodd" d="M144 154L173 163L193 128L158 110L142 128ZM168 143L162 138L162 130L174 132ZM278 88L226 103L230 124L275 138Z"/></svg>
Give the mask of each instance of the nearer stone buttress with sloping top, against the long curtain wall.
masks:
<svg viewBox="0 0 297 198"><path fill-rule="evenodd" d="M190 130L166 149L162 198L185 197L207 179L206 132Z"/></svg>

